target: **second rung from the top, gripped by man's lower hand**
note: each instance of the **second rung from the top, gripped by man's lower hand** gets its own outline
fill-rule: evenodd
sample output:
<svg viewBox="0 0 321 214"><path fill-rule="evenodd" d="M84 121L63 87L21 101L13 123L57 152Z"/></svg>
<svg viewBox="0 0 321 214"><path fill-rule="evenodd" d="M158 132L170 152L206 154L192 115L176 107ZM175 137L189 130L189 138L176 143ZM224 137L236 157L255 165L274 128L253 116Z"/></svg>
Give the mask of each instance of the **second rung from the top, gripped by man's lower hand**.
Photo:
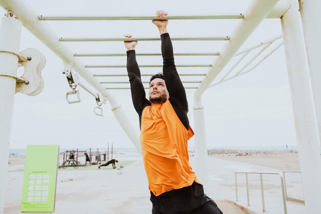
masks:
<svg viewBox="0 0 321 214"><path fill-rule="evenodd" d="M172 41L210 41L210 40L229 40L229 36L216 37L174 37ZM64 38L60 37L59 41L158 41L159 37L155 38L117 38L117 37L92 37L92 38Z"/></svg>

